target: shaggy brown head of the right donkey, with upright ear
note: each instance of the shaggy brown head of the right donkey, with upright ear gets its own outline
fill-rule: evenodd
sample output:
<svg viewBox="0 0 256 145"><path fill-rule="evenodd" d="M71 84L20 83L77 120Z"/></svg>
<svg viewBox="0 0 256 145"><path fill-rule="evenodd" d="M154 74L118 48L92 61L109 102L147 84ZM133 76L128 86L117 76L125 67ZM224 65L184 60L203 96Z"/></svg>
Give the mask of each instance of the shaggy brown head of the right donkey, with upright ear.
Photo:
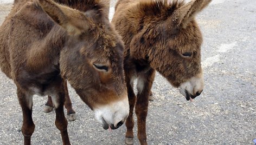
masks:
<svg viewBox="0 0 256 145"><path fill-rule="evenodd" d="M210 1L194 0L187 4L184 1L151 2L148 9L143 9L148 16L144 22L148 25L131 42L131 47L138 46L137 42L140 42L140 47L148 47L148 52L136 53L143 53L151 67L179 87L180 93L190 101L202 93L204 86L200 52L202 35L194 17Z"/></svg>

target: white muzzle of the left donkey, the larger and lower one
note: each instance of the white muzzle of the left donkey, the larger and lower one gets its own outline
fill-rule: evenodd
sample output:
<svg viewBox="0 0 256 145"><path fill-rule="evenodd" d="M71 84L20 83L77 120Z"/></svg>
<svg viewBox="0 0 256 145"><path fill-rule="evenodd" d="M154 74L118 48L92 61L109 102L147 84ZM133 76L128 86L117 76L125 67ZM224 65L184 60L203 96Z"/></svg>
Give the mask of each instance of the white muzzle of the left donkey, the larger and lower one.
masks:
<svg viewBox="0 0 256 145"><path fill-rule="evenodd" d="M104 129L117 129L129 115L129 101L127 95L123 100L98 106L94 110L95 119L103 125Z"/></svg>

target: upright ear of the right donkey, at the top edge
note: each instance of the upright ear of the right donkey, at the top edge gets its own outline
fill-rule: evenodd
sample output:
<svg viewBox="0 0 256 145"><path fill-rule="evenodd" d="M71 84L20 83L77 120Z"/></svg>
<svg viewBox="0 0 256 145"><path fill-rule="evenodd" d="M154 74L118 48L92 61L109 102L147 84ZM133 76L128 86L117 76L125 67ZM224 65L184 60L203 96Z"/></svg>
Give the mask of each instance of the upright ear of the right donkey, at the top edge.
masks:
<svg viewBox="0 0 256 145"><path fill-rule="evenodd" d="M187 23L191 21L197 12L200 12L203 8L206 8L211 1L212 0L193 0L181 6L181 8L174 12L174 19L177 22L177 26L185 28Z"/></svg>

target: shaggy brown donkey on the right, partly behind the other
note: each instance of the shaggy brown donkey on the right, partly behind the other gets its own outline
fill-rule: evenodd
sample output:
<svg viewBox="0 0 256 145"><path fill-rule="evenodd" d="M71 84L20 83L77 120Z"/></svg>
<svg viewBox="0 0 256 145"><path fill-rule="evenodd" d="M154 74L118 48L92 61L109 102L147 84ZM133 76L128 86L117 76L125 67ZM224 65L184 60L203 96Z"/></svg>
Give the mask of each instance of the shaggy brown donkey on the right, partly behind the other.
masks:
<svg viewBox="0 0 256 145"><path fill-rule="evenodd" d="M124 70L130 114L125 142L133 144L133 108L138 139L146 141L149 93L158 71L187 100L193 101L204 87L201 68L202 34L195 15L211 0L184 1L119 0L112 19L124 41ZM133 91L137 78L138 94Z"/></svg>

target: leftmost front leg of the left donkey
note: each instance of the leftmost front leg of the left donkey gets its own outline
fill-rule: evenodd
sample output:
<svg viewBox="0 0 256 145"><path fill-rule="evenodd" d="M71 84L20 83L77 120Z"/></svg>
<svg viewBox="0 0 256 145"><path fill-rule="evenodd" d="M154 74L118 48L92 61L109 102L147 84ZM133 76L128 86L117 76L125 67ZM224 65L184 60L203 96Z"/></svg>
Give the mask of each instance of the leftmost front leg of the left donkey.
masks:
<svg viewBox="0 0 256 145"><path fill-rule="evenodd" d="M23 114L23 124L21 130L24 136L24 144L29 145L31 141L31 135L35 130L35 124L32 119L33 95L24 93L20 88L17 87L17 96Z"/></svg>

